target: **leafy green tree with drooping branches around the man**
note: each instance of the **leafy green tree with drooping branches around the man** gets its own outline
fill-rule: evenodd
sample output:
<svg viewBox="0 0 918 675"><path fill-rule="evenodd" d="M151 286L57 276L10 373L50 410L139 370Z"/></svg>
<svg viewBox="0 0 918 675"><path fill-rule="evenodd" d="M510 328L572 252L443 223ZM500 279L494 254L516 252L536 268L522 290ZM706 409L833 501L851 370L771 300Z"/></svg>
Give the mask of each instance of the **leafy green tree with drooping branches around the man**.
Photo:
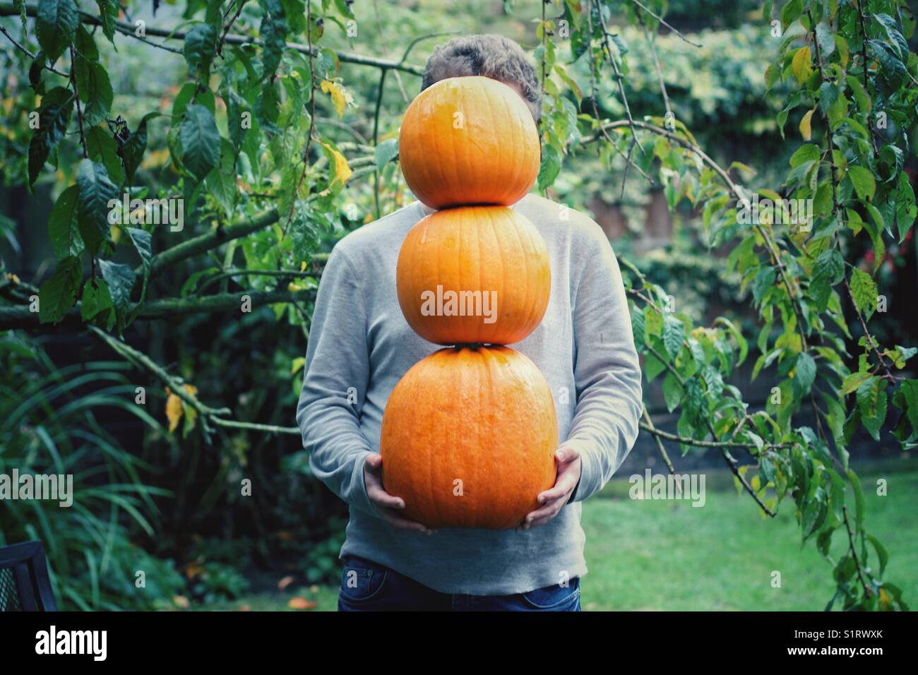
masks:
<svg viewBox="0 0 918 675"><path fill-rule="evenodd" d="M546 95L538 189L550 190L563 164L589 150L621 177L622 192L644 181L662 187L670 208L700 212L702 242L730 251L726 264L751 297L760 330L747 337L725 317L696 325L622 258L647 380L662 378L666 406L679 412L677 433L657 429L646 410L642 429L670 471L666 444L712 451L766 515L789 502L803 540L815 540L833 565L829 608L904 609L900 589L883 580L888 554L868 534L847 448L860 429L879 441L884 425L903 447L918 438L918 380L901 375L916 350L880 344L870 331L885 311L877 267L890 242L909 236L916 215L904 171L918 102L912 11L904 0L766 3L761 26L775 40L763 68L771 103L762 105L782 100L776 123L796 150L779 185L758 185L744 164L715 162L672 105L656 36L669 32L686 50L697 42L661 17L665 5L542 4L534 51ZM361 24L345 0L187 0L176 29L131 21L109 0L91 7L4 0L0 16L21 17L18 37L3 31L23 75L18 119L4 141L6 181L36 186L53 167L65 183L48 220L57 266L39 288L7 279L0 329L82 327L169 389L170 422L177 429L184 420L185 433L297 434L208 406L215 392L194 388L120 336L135 321L259 307L308 333L318 252L405 198L397 143L380 129L385 88L389 75L400 85L400 75L420 73L409 55L434 36L410 41L400 60L355 54L347 38ZM631 44L613 28L620 18L631 26ZM126 39L183 54L185 82L168 109L119 114L98 43ZM342 121L356 105L342 63L354 67L355 81L378 74L372 133ZM656 73L655 115L639 118L629 105L636 65ZM618 118L600 109L602 87L617 96ZM151 191L140 177L153 132L164 136L174 179ZM782 199L810 205L812 217L788 222L768 208ZM861 242L873 251L867 268L850 259ZM169 268L189 260L194 274L167 284ZM752 377L768 370L778 380L765 410L752 409L730 384L750 340L760 354ZM801 425L804 414L814 428ZM834 536L845 543L837 559Z"/></svg>

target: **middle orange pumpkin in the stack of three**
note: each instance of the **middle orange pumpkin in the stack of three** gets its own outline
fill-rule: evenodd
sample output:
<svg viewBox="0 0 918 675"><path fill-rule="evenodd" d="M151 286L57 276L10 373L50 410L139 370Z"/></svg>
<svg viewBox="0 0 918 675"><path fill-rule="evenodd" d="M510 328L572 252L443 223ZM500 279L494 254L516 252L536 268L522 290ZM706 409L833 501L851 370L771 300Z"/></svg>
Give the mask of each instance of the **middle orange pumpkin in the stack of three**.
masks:
<svg viewBox="0 0 918 675"><path fill-rule="evenodd" d="M548 306L548 248L512 208L447 208L409 231L396 285L406 321L431 343L518 343Z"/></svg>

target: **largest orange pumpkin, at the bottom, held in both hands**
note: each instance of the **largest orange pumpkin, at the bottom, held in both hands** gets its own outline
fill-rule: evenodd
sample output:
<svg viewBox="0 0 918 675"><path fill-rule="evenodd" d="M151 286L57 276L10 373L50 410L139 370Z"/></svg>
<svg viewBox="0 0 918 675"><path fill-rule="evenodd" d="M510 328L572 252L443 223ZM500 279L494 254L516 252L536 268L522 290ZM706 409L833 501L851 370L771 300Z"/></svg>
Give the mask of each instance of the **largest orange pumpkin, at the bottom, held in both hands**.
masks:
<svg viewBox="0 0 918 675"><path fill-rule="evenodd" d="M554 485L552 391L507 347L455 347L421 359L383 415L383 485L431 528L507 529Z"/></svg>

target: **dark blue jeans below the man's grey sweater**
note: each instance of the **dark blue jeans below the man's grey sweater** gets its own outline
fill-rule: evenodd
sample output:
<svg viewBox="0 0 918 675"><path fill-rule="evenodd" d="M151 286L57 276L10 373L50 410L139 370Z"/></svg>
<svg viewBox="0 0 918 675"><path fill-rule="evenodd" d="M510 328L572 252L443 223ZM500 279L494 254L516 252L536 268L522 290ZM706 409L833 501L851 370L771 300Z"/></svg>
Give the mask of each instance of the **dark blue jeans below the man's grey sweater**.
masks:
<svg viewBox="0 0 918 675"><path fill-rule="evenodd" d="M344 558L339 612L579 612L580 579L514 595L434 591L363 557Z"/></svg>

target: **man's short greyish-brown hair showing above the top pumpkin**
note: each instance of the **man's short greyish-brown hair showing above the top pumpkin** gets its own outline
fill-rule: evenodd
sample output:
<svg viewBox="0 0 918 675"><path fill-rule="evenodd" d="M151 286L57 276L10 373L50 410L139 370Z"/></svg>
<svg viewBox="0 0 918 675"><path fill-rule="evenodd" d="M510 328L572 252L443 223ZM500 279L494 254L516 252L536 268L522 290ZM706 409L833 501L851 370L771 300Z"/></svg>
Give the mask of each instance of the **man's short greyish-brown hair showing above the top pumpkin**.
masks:
<svg viewBox="0 0 918 675"><path fill-rule="evenodd" d="M424 69L421 91L448 77L484 75L520 87L532 118L542 115L542 90L535 68L519 44L502 35L467 35L437 45Z"/></svg>

